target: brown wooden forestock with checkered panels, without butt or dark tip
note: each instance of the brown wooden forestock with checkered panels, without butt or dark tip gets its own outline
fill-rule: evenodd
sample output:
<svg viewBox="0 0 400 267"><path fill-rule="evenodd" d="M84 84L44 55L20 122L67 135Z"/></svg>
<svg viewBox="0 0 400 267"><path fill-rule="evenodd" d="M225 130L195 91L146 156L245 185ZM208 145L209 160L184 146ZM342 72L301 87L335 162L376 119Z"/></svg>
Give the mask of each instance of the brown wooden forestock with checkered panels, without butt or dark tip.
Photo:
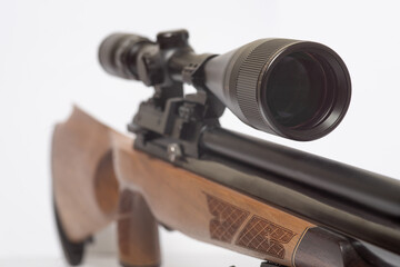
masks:
<svg viewBox="0 0 400 267"><path fill-rule="evenodd" d="M116 171L120 182L131 190L140 191L157 220L198 240L291 266L296 245L303 231L312 227L311 224L203 177L134 151L131 149L131 140L127 138L116 136L113 141ZM228 215L210 211L210 196L229 204ZM230 230L232 237L214 238L210 224L227 224L234 209L243 210L249 216L242 224L233 227L238 228L237 230ZM227 211L227 207L221 210ZM249 225L253 217L268 222ZM236 219L231 220L237 221L238 218L242 217L237 215ZM228 225L226 228L230 228L231 224ZM283 229L286 233L282 234ZM247 237L240 239L240 233Z"/></svg>

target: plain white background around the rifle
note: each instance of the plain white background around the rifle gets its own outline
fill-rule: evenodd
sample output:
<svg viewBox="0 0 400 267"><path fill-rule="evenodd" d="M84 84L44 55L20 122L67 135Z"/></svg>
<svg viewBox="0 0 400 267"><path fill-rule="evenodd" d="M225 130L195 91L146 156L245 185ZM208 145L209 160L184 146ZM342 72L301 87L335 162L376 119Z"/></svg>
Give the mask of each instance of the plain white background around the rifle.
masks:
<svg viewBox="0 0 400 267"><path fill-rule="evenodd" d="M266 37L328 44L347 62L353 87L336 131L294 142L256 131L229 111L222 125L400 178L399 9L398 1L1 0L0 266L16 266L17 258L27 258L24 266L44 266L60 258L50 197L53 125L78 103L124 131L139 102L152 93L99 67L98 44L116 31L154 38L186 28L198 52L222 53ZM180 234L162 231L162 247L166 266L204 266L203 260L258 266Z"/></svg>

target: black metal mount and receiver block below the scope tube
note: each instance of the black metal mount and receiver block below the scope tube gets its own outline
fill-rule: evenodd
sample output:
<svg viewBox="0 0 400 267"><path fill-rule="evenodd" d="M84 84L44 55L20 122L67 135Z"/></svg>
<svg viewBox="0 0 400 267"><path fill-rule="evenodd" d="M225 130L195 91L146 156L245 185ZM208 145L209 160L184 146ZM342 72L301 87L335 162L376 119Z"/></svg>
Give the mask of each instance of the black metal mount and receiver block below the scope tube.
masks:
<svg viewBox="0 0 400 267"><path fill-rule="evenodd" d="M137 135L134 147L151 150L154 144L162 142L162 149L170 152L171 162L177 156L198 158L202 130L219 126L218 118L223 112L224 107L214 100L199 91L184 98L168 99L164 110L158 109L152 101L141 103L133 121L128 125L129 131ZM173 146L168 147L168 144ZM173 154L171 148L174 148Z"/></svg>

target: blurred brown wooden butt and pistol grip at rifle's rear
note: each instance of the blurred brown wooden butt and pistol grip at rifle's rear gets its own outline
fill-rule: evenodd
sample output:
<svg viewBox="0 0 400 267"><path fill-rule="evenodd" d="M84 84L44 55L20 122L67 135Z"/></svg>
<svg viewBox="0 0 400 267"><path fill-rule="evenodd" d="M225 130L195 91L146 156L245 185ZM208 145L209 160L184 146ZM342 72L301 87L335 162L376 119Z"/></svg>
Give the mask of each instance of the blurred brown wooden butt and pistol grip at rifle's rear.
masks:
<svg viewBox="0 0 400 267"><path fill-rule="evenodd" d="M117 179L116 131L82 110L56 127L52 180L56 206L68 239L81 243L118 221L119 258L124 266L159 266L157 222L143 198Z"/></svg>

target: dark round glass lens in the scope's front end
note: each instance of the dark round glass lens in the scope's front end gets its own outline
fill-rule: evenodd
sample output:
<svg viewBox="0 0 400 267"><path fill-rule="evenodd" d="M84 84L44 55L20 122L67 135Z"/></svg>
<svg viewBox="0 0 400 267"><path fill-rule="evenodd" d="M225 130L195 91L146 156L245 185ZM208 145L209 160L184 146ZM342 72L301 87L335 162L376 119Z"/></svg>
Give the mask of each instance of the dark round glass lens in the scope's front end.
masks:
<svg viewBox="0 0 400 267"><path fill-rule="evenodd" d="M320 120L327 79L316 56L293 52L271 70L264 96L274 120L288 128L309 128Z"/></svg>

